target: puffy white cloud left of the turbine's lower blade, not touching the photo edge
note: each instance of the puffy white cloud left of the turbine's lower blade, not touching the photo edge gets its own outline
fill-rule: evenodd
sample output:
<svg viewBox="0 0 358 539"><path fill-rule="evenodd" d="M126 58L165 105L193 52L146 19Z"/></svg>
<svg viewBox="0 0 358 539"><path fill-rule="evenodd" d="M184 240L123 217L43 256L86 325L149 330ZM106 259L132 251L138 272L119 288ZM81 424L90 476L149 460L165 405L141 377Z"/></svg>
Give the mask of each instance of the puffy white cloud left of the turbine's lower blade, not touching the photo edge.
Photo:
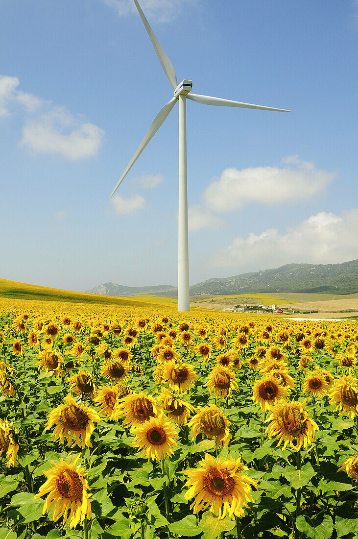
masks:
<svg viewBox="0 0 358 539"><path fill-rule="evenodd" d="M104 131L93 123L81 123L64 107L53 108L23 128L20 146L39 154L59 154L69 160L98 153Z"/></svg>

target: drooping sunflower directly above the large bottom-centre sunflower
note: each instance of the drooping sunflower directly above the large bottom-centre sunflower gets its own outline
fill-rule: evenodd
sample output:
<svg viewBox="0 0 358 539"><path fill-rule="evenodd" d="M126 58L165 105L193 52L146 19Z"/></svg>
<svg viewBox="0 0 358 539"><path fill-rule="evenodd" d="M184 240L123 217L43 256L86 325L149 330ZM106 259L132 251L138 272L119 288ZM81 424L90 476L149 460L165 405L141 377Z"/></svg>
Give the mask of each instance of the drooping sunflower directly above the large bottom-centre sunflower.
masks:
<svg viewBox="0 0 358 539"><path fill-rule="evenodd" d="M219 445L221 447L228 445L230 439L229 426L230 421L215 404L199 408L198 413L196 413L189 423L189 427L192 429L193 440L195 440L196 435L199 433L205 434L209 440L215 437L216 448Z"/></svg>

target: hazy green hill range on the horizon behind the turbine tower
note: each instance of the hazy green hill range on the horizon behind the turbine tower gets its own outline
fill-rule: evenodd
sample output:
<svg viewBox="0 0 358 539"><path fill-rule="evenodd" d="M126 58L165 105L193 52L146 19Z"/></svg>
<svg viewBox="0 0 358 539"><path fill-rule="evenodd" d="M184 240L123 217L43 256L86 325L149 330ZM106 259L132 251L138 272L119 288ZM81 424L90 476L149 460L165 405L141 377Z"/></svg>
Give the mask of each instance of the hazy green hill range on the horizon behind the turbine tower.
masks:
<svg viewBox="0 0 358 539"><path fill-rule="evenodd" d="M130 287L107 282L88 292L112 296L139 294L173 296L177 288L170 285ZM212 278L190 287L192 296L260 292L355 294L358 292L358 260L350 260L343 264L286 264L279 268L242 273L224 279Z"/></svg>

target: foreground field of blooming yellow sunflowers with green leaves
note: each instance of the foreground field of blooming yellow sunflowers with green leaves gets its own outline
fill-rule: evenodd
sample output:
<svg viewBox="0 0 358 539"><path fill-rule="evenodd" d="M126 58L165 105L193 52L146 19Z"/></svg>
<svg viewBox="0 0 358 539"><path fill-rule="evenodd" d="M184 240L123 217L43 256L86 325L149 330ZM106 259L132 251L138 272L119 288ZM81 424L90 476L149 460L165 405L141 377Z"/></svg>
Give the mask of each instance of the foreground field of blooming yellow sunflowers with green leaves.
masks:
<svg viewBox="0 0 358 539"><path fill-rule="evenodd" d="M358 538L355 321L31 305L0 304L0 539Z"/></svg>

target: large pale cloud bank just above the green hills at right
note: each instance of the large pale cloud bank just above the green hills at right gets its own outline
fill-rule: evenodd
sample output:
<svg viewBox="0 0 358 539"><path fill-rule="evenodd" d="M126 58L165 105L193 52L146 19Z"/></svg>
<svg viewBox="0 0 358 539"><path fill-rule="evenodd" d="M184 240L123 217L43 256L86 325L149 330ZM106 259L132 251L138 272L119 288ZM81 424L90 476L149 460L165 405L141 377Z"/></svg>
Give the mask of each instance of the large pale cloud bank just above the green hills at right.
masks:
<svg viewBox="0 0 358 539"><path fill-rule="evenodd" d="M358 209L345 211L342 217L320 212L284 234L268 229L235 238L214 255L211 264L235 268L236 273L293 262L338 264L358 258L357 230Z"/></svg>

